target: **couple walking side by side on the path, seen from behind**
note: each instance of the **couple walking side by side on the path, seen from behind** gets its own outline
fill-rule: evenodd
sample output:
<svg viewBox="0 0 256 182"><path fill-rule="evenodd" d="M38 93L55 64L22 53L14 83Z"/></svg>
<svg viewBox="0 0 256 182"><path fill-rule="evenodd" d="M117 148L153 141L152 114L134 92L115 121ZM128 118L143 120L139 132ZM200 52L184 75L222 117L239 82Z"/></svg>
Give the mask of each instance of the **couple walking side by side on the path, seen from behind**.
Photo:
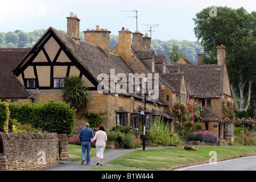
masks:
<svg viewBox="0 0 256 182"><path fill-rule="evenodd" d="M90 151L91 151L91 142L95 143L96 147L96 153L97 153L97 160L99 165L99 162L101 162L101 166L103 165L103 152L106 146L107 141L107 134L105 132L105 127L100 126L99 131L95 133L95 136L93 135L93 130L89 128L89 124L85 124L85 128L83 128L80 131L79 139L82 142L82 161L81 164L83 164L86 161L86 164L90 164ZM86 153L86 160L85 160L85 153Z"/></svg>

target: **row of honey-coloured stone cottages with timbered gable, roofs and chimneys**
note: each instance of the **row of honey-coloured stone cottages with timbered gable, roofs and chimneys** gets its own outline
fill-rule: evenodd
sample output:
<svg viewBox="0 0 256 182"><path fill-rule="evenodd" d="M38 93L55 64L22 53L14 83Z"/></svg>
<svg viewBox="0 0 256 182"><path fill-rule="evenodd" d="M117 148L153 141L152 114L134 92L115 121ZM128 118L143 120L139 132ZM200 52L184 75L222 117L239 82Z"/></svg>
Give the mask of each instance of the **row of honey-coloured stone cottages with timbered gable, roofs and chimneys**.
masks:
<svg viewBox="0 0 256 182"><path fill-rule="evenodd" d="M32 48L1 48L0 99L62 101L65 76L80 76L83 86L89 88L90 100L85 108L77 111L79 131L87 122L80 117L83 113L107 113L102 115L107 130L116 125L138 128L143 118L146 129L150 129L157 115L173 122L177 98L180 96L186 102L189 94L202 105L211 103L209 108L205 107L203 121L207 129L223 138L219 108L223 100L231 100L224 48L218 52L217 65L187 64L188 60L183 58L178 63L170 63L165 55L150 49L151 38L147 35L121 28L119 43L110 52L109 30L99 26L95 30L88 28L84 31L85 41L81 41L79 23L80 19L70 13L67 34L49 27ZM129 81L134 75L139 75L139 84ZM146 76L153 80L151 89L144 86ZM109 85L103 93L98 92L102 82ZM129 88L129 92L117 92L124 87ZM141 115L141 111L145 111L145 115ZM171 130L174 132L173 125Z"/></svg>

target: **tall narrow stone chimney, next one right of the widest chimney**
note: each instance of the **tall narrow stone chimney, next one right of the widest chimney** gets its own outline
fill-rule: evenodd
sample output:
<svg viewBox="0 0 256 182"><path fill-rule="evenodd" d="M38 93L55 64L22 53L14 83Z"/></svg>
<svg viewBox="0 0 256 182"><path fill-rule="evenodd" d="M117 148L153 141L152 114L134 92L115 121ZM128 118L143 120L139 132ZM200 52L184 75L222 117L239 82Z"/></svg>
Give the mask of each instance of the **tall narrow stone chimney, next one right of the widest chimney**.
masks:
<svg viewBox="0 0 256 182"><path fill-rule="evenodd" d="M131 48L131 31L128 28L122 27L119 32L119 44L118 44L118 52L119 55L123 57L123 59L128 59L129 52Z"/></svg>

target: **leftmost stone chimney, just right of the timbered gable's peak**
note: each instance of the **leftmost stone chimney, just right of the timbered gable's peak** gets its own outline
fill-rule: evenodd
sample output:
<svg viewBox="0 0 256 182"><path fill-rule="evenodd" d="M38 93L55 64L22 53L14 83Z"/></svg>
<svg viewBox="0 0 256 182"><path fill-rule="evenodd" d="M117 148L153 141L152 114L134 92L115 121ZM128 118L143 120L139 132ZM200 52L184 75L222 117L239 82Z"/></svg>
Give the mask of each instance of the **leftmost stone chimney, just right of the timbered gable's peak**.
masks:
<svg viewBox="0 0 256 182"><path fill-rule="evenodd" d="M74 13L70 13L69 17L67 18L67 35L69 35L75 43L80 42L79 39L79 22L80 19L77 18L77 15Z"/></svg>

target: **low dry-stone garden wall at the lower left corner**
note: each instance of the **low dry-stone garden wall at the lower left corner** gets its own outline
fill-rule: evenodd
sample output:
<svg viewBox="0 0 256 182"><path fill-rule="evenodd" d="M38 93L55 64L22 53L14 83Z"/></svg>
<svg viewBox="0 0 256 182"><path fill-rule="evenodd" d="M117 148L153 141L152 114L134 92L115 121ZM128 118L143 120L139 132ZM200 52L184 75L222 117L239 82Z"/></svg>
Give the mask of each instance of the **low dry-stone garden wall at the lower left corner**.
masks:
<svg viewBox="0 0 256 182"><path fill-rule="evenodd" d="M0 154L1 170L31 171L53 166L59 160L56 133L2 133L5 152Z"/></svg>

